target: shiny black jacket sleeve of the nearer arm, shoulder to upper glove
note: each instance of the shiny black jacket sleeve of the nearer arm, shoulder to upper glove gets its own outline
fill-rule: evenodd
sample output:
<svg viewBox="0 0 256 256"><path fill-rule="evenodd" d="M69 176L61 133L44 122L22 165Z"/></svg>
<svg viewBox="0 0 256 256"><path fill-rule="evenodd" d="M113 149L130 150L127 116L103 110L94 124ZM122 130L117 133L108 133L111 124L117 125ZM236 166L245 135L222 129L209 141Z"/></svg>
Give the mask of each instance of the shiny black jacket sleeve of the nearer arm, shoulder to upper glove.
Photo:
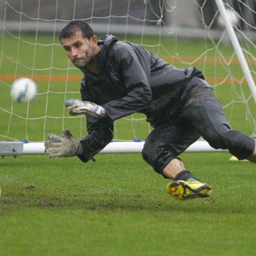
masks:
<svg viewBox="0 0 256 256"><path fill-rule="evenodd" d="M110 63L118 67L124 96L103 104L106 114L116 120L148 107L152 101L150 63L143 65L135 49L125 42L117 42L112 49Z"/></svg>

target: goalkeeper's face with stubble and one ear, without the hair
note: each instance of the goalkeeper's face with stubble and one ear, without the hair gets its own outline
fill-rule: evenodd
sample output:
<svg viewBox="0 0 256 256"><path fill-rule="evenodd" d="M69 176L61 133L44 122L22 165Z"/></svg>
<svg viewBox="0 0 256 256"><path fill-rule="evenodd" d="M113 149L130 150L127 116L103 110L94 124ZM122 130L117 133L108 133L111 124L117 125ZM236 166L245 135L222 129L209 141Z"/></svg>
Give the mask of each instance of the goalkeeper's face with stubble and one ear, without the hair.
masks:
<svg viewBox="0 0 256 256"><path fill-rule="evenodd" d="M81 31L76 31L71 37L61 39L61 43L72 63L81 68L88 65L95 56L94 49L97 46L97 37L93 36L91 39L86 39Z"/></svg>

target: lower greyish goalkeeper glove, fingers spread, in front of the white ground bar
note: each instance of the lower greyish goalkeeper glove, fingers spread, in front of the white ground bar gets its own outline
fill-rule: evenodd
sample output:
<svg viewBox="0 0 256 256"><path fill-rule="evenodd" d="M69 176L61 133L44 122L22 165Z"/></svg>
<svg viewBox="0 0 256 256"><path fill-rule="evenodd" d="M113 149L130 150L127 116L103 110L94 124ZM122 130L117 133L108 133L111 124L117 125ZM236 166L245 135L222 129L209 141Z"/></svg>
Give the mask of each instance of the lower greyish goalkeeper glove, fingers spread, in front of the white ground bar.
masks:
<svg viewBox="0 0 256 256"><path fill-rule="evenodd" d="M45 142L45 152L52 157L73 157L82 154L82 145L74 138L69 130L63 130L63 136L54 133L48 135L48 142Z"/></svg>

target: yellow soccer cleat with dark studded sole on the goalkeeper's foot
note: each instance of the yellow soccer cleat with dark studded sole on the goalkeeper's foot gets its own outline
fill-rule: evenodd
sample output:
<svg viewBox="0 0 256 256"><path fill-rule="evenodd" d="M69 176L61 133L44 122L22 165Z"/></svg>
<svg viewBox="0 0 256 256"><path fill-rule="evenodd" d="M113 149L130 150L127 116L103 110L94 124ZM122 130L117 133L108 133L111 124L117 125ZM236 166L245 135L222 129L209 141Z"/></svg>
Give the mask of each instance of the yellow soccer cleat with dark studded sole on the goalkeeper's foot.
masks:
<svg viewBox="0 0 256 256"><path fill-rule="evenodd" d="M195 199L197 197L210 197L212 187L197 180L176 180L167 185L167 190L172 197L180 200Z"/></svg>

